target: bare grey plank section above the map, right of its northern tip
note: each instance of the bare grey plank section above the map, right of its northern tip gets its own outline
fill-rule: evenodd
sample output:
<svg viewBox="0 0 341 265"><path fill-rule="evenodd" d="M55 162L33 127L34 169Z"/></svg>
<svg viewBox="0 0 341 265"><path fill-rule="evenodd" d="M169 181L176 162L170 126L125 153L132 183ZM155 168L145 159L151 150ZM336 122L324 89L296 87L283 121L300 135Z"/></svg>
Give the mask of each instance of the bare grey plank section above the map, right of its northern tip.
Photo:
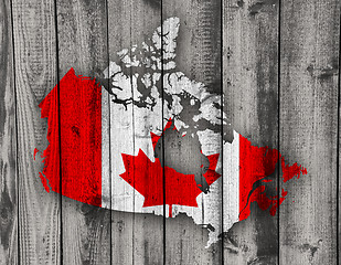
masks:
<svg viewBox="0 0 341 265"><path fill-rule="evenodd" d="M177 65L189 78L221 89L221 2L162 0L163 19L178 17Z"/></svg>

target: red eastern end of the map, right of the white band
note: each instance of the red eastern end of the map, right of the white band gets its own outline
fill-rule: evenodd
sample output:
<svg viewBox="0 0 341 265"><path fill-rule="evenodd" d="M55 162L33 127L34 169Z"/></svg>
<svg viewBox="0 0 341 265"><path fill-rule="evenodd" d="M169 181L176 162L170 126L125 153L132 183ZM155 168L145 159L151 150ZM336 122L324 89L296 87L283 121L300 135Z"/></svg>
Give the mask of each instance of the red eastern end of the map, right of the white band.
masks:
<svg viewBox="0 0 341 265"><path fill-rule="evenodd" d="M271 215L276 214L288 192L283 189L279 197L270 195L266 191L266 184L278 179L274 173L279 159L281 163L279 173L284 182L295 176L299 178L301 173L307 174L307 169L297 163L286 165L278 150L253 146L246 138L239 137L239 220L248 218L251 202L257 202L262 210L270 209ZM271 178L264 179L269 176ZM258 186L254 187L257 181Z"/></svg>

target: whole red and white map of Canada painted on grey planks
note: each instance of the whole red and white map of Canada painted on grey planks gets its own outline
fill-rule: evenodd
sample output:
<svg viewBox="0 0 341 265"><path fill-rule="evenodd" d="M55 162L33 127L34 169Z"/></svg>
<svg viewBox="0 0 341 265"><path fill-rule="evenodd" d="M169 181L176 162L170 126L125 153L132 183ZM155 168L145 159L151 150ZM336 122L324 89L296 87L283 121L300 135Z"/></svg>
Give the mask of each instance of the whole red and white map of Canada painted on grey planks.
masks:
<svg viewBox="0 0 341 265"><path fill-rule="evenodd" d="M275 215L288 194L283 183L307 169L237 131L227 140L223 95L177 67L179 30L169 18L118 51L99 83L70 70L40 104L50 142L40 178L47 192L92 205L184 213L210 230L209 246L248 218L252 202Z"/></svg>

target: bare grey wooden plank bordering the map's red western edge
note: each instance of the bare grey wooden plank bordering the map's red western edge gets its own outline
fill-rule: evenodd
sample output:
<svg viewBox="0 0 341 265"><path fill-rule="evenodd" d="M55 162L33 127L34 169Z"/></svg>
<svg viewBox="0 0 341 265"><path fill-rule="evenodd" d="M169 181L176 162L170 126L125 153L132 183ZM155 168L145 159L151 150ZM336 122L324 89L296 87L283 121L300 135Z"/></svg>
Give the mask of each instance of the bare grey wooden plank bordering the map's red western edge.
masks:
<svg viewBox="0 0 341 265"><path fill-rule="evenodd" d="M43 163L34 149L47 146L46 120L40 102L56 84L53 1L12 1L18 114L20 263L58 264L60 195L47 193L39 172Z"/></svg>

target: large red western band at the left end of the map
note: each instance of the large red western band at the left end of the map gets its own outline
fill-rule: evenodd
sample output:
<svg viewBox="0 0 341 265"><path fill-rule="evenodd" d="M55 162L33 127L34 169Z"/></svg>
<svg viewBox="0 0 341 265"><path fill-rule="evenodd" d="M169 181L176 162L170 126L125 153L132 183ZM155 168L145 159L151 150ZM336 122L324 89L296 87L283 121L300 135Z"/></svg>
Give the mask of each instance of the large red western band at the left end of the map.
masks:
<svg viewBox="0 0 341 265"><path fill-rule="evenodd" d="M93 78L76 76L75 71L71 68L58 86L55 86L39 106L41 117L47 118L49 124L50 145L43 152L45 167L41 177L45 189L50 187L53 191L61 192L60 163L62 163L62 194L100 206L102 88L99 84Z"/></svg>

